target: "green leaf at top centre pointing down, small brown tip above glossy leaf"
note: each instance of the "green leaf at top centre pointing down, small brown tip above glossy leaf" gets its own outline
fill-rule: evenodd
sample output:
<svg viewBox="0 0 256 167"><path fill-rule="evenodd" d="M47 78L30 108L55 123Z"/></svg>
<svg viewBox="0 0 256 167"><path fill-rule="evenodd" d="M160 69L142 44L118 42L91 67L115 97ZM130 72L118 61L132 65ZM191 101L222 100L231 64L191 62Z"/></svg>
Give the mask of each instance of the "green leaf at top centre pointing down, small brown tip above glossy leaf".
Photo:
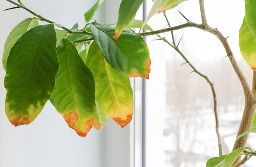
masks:
<svg viewBox="0 0 256 167"><path fill-rule="evenodd" d="M114 39L119 38L122 31L130 24L143 1L144 0L122 0L119 7L115 35L113 36Z"/></svg>

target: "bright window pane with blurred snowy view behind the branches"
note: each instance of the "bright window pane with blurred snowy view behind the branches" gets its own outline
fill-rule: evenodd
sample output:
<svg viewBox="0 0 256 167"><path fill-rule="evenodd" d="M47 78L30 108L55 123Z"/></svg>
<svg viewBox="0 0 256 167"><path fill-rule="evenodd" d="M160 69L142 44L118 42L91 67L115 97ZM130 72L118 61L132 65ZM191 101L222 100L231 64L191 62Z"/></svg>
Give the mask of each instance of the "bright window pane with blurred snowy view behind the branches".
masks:
<svg viewBox="0 0 256 167"><path fill-rule="evenodd" d="M147 1L147 11L153 2ZM221 4L221 5L220 5ZM230 8L232 4L232 8ZM227 40L241 70L251 85L252 70L243 60L238 45L238 30L243 22L242 1L205 1L207 20ZM199 3L183 2L166 11L171 26L186 23L178 9L190 21L201 23ZM216 12L218 10L218 12ZM148 24L163 29L167 22L156 14ZM231 28L229 28L231 27ZM171 33L159 34L172 43ZM236 138L242 117L244 94L225 50L218 38L195 28L174 31L176 44L198 71L214 83L224 154L228 154ZM213 95L207 81L193 72L182 57L157 36L146 41L152 59L150 79L146 81L146 167L204 167L207 160L218 156ZM250 135L248 146L255 140ZM255 158L247 167L255 164Z"/></svg>

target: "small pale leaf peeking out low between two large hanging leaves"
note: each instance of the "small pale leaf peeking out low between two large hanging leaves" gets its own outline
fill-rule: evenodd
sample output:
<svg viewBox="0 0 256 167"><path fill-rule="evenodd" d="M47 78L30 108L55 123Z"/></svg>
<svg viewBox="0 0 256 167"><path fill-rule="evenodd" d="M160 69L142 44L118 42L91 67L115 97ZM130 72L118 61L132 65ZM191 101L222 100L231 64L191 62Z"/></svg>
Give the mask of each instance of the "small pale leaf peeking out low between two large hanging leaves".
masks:
<svg viewBox="0 0 256 167"><path fill-rule="evenodd" d="M103 127L105 127L105 125L107 124L108 116L106 116L106 114L102 111L101 106L99 106L97 102L96 102L96 106L97 106L97 114L92 126L95 129L100 130Z"/></svg>

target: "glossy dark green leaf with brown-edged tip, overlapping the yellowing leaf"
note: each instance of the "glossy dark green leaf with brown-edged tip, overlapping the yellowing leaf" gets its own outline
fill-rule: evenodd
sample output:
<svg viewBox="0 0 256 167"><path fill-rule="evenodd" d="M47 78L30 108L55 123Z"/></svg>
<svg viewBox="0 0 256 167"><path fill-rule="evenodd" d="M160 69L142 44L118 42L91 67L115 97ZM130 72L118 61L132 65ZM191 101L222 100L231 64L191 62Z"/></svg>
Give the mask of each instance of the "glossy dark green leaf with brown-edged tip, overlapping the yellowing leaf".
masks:
<svg viewBox="0 0 256 167"><path fill-rule="evenodd" d="M124 30L114 40L111 34L115 28L97 22L91 24L91 29L103 56L114 69L129 77L149 78L151 60L146 42L141 36Z"/></svg>

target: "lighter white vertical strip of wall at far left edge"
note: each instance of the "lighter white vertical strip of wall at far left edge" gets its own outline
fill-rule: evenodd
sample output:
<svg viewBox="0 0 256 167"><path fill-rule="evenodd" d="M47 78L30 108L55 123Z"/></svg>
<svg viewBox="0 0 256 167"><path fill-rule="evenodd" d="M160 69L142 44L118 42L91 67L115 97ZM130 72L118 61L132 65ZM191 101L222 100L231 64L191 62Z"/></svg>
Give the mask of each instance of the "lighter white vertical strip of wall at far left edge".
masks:
<svg viewBox="0 0 256 167"><path fill-rule="evenodd" d="M0 1L1 12L0 12L0 31L2 37L0 38L0 58L2 62L2 53L5 39L7 38L11 28L20 21L19 10L3 12L3 9L12 7L9 2L4 0ZM18 17L15 17L18 16ZM10 22L10 19L12 22ZM2 64L2 63L1 63ZM7 116L4 113L4 98L6 91L4 89L4 75L5 71L1 65L0 67L0 167L21 167L20 164L23 162L22 157L22 143L23 143L23 127L14 128L11 125ZM9 157L9 158L7 158ZM14 160L15 159L15 160Z"/></svg>

